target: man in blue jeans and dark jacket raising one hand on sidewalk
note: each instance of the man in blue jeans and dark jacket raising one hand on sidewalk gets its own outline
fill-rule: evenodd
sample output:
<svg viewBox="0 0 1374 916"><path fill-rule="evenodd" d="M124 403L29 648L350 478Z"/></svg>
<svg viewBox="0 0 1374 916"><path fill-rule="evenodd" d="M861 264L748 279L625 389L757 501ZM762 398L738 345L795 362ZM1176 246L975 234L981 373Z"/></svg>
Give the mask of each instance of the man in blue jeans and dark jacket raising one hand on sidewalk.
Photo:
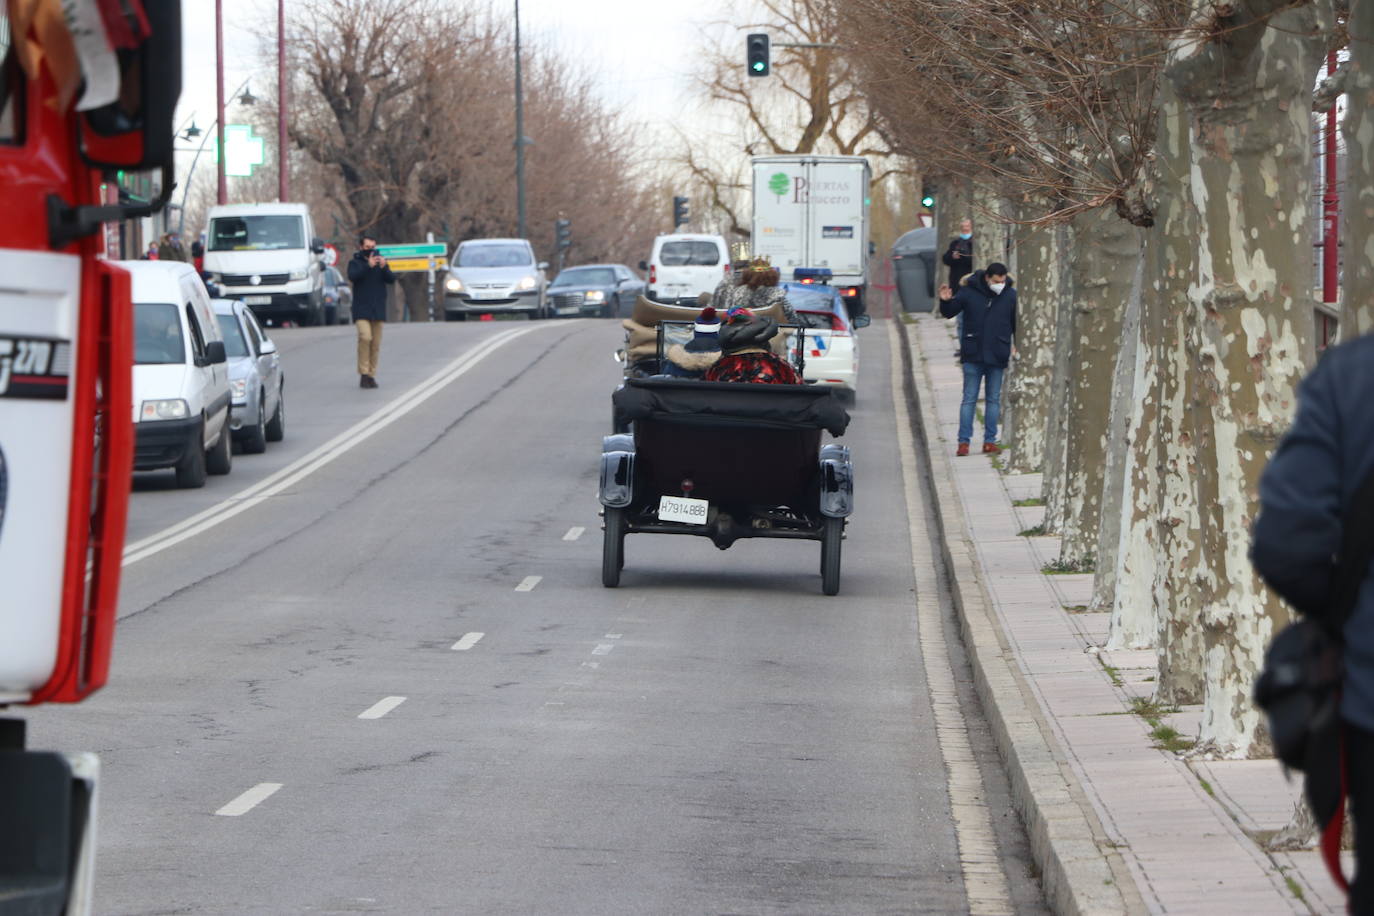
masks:
<svg viewBox="0 0 1374 916"><path fill-rule="evenodd" d="M959 450L969 453L973 438L973 409L978 387L984 387L982 453L996 455L998 420L1002 417L1002 376L1011 361L1011 339L1017 332L1017 291L1007 276L1007 265L989 264L959 282L958 293L949 284L940 287L940 314L963 317L959 335L959 361L963 363L963 401L959 404Z"/></svg>

